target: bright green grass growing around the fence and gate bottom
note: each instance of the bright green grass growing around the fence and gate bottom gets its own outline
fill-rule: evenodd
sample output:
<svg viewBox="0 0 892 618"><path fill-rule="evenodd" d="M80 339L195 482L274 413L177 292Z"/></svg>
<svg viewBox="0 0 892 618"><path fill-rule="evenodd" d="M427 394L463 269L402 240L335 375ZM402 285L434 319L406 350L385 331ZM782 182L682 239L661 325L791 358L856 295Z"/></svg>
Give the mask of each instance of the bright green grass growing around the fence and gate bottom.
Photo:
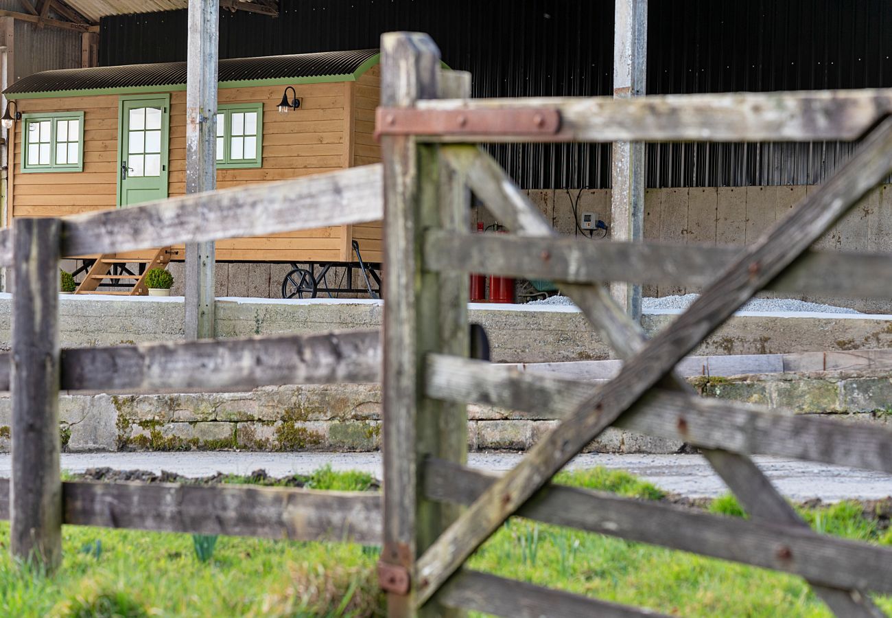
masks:
<svg viewBox="0 0 892 618"><path fill-rule="evenodd" d="M563 472L568 485L659 499L662 492L625 472ZM225 482L250 482L230 477ZM359 472L330 468L263 484L375 489ZM732 497L709 505L742 516ZM892 545L892 533L839 503L800 509L815 530ZM219 537L207 562L187 534L65 526L64 562L52 576L13 564L0 523L0 615L15 616L368 616L379 615L377 548ZM471 568L667 614L825 616L797 577L513 518L471 558ZM892 612L889 599L878 599Z"/></svg>

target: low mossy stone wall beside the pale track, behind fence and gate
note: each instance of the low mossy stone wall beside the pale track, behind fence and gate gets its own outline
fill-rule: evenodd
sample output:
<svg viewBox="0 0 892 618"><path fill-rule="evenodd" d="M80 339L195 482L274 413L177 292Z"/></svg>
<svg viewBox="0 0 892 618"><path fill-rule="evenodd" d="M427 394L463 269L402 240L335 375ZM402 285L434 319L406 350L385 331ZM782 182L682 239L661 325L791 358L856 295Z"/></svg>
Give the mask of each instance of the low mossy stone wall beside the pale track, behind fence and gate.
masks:
<svg viewBox="0 0 892 618"><path fill-rule="evenodd" d="M706 397L769 405L888 427L892 378L846 372L692 378ZM0 397L0 450L9 448L10 402ZM63 395L62 442L71 452L243 449L368 451L380 446L376 384L257 388L250 393ZM554 422L491 406L468 408L472 451L524 450ZM674 453L681 442L607 430L589 451Z"/></svg>

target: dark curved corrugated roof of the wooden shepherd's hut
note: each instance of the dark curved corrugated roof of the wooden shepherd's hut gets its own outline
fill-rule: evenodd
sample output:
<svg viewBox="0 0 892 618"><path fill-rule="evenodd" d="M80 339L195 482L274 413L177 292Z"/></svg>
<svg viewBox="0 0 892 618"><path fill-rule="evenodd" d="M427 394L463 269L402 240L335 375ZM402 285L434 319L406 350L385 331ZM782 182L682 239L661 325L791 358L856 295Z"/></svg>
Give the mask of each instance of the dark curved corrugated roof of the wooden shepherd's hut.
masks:
<svg viewBox="0 0 892 618"><path fill-rule="evenodd" d="M350 76L373 61L376 49L319 54L232 58L219 62L222 82L248 79L301 79ZM92 69L41 71L12 84L4 95L99 88L180 86L186 83L186 63L126 64Z"/></svg>

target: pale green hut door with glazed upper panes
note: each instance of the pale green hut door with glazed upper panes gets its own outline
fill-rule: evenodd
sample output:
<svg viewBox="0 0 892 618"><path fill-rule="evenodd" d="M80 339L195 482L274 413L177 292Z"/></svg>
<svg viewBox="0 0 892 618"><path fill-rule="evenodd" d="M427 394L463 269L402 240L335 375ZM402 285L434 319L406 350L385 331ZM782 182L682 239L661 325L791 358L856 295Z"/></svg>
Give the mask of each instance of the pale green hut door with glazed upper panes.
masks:
<svg viewBox="0 0 892 618"><path fill-rule="evenodd" d="M118 205L168 196L170 96L120 99Z"/></svg>

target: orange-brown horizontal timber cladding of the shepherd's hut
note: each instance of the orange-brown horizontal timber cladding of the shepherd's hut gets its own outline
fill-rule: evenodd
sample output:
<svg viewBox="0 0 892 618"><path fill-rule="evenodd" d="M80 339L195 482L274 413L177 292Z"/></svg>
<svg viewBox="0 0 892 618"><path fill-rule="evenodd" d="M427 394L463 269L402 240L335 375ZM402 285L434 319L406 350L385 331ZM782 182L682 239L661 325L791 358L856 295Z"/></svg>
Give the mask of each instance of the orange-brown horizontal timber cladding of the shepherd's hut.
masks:
<svg viewBox="0 0 892 618"><path fill-rule="evenodd" d="M295 87L301 109L280 114L277 104L282 86L222 88L219 103L263 103L262 167L217 172L218 188L238 187L269 180L284 180L334 171L379 161L377 147L369 157L368 144L375 145L371 127L361 135L366 143L362 155L353 158L354 121L374 116L379 71L359 82L304 84ZM159 92L164 92L163 88ZM145 93L146 97L155 93ZM355 107L354 107L355 105ZM13 145L14 169L10 173L12 217L67 216L103 211L117 206L119 96L78 96L21 101L22 113L84 112L84 171L21 173L21 128L16 124ZM169 196L186 192L186 93L170 93L169 110ZM367 137L368 132L368 137ZM12 221L12 220L11 220ZM300 221L295 221L299 225ZM380 224L362 226L357 239L363 259L380 261ZM376 230L378 230L376 232ZM283 230L264 238L238 238L217 243L217 259L239 262L306 262L353 260L351 226L332 226L297 232ZM367 255L368 252L368 255ZM184 259L182 247L174 247L174 259Z"/></svg>

